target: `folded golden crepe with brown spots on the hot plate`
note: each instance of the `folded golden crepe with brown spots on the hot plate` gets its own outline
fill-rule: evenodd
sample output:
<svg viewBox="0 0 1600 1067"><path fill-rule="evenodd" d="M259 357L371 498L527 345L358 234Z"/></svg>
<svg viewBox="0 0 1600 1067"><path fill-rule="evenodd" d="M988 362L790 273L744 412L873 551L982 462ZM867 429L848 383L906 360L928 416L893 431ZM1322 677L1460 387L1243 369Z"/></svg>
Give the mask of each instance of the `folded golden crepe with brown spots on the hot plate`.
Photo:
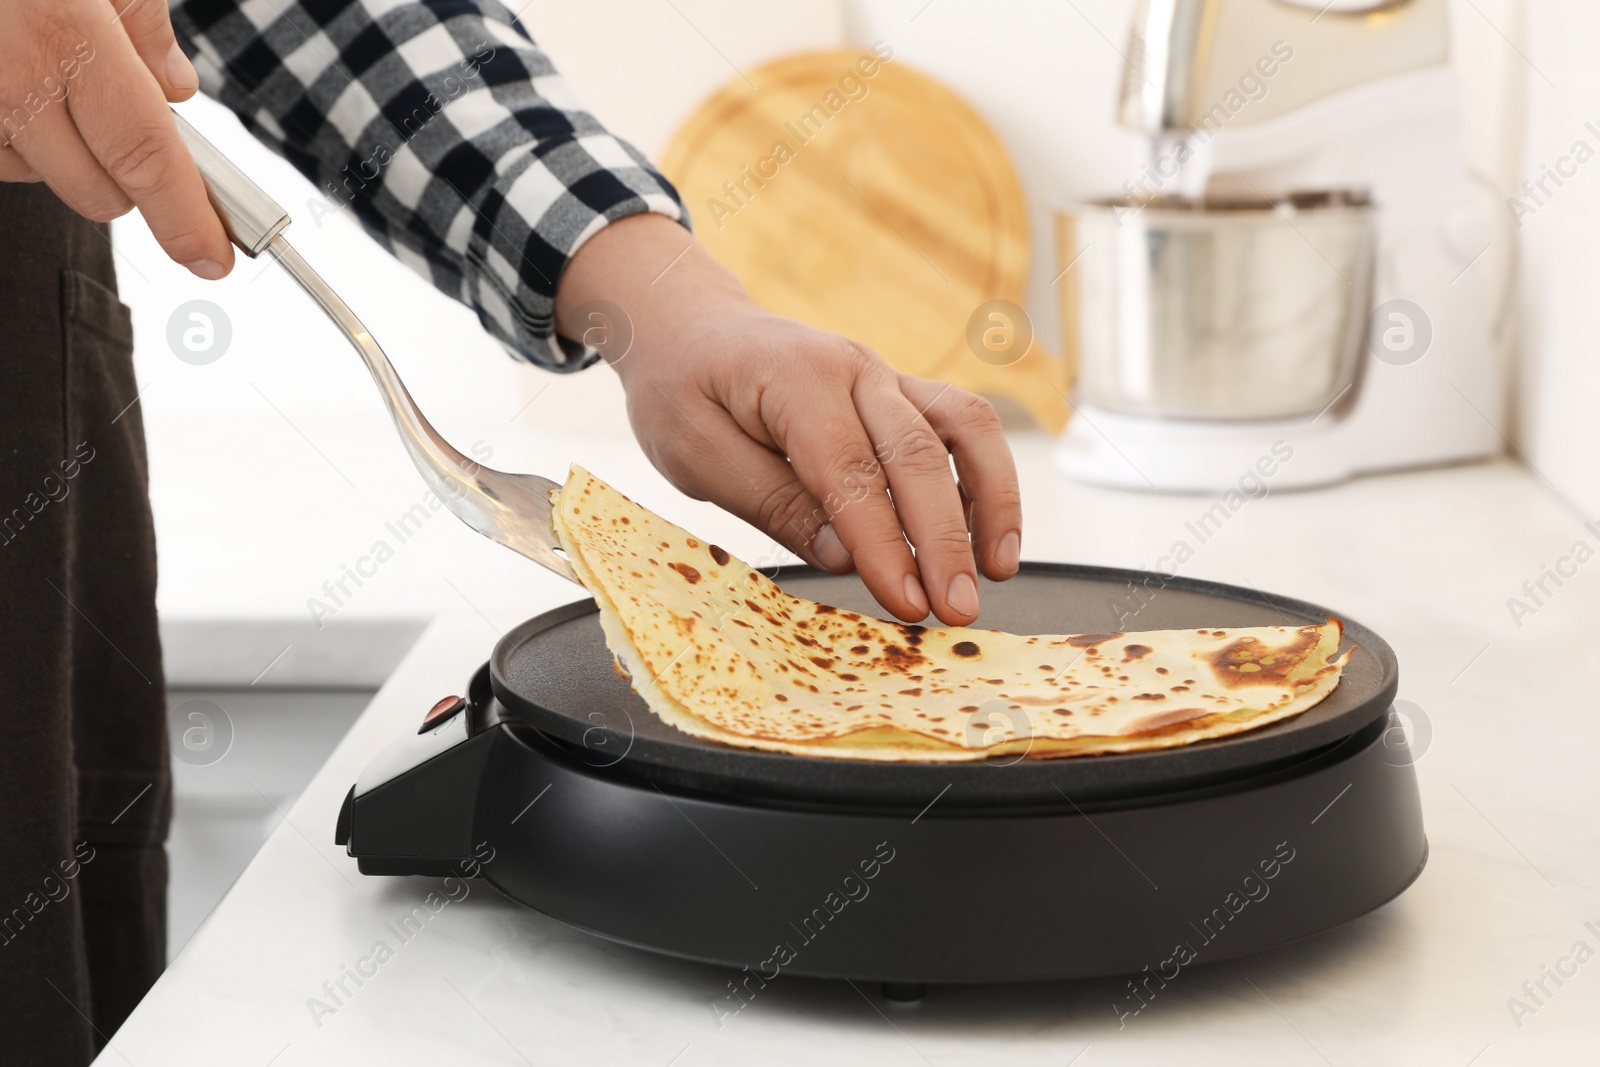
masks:
<svg viewBox="0 0 1600 1067"><path fill-rule="evenodd" d="M782 592L581 467L555 533L650 709L728 745L851 760L1136 752L1299 715L1341 627L1021 637L883 622Z"/></svg>

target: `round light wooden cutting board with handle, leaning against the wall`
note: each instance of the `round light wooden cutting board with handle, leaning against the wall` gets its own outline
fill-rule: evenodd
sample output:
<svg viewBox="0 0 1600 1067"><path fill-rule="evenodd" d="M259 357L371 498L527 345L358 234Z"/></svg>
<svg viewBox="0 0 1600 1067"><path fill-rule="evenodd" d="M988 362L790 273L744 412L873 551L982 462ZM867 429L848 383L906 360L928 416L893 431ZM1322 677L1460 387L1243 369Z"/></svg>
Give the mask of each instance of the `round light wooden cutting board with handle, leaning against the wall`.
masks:
<svg viewBox="0 0 1600 1067"><path fill-rule="evenodd" d="M869 51L789 56L701 104L661 168L766 307L904 373L1008 397L1045 429L1066 422L1066 368L1018 307L1021 186L994 131L933 78Z"/></svg>

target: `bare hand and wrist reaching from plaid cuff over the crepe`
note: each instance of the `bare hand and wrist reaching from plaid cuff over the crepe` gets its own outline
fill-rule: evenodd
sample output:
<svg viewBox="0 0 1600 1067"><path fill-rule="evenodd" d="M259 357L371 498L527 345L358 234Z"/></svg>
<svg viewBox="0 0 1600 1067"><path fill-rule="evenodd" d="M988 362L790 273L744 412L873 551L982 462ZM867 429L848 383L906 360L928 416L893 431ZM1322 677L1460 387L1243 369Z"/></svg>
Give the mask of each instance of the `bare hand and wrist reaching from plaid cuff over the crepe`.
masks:
<svg viewBox="0 0 1600 1067"><path fill-rule="evenodd" d="M627 323L605 323L616 310L597 302ZM808 563L858 569L901 619L931 608L971 622L978 571L1016 574L1022 507L994 408L763 310L670 219L590 238L562 277L557 323L611 360L645 454L675 486Z"/></svg>

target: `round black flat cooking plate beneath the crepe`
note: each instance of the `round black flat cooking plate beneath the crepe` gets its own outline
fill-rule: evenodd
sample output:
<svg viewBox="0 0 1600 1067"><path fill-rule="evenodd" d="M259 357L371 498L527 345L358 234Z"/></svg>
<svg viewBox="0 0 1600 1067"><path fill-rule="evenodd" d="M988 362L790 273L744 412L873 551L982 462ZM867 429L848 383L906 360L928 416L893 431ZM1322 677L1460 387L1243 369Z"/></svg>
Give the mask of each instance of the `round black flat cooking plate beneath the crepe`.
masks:
<svg viewBox="0 0 1600 1067"><path fill-rule="evenodd" d="M782 568L797 597L875 614L854 576ZM978 625L1013 633L1099 633L1189 627L1301 625L1326 608L1253 589L1067 563L1024 563L1008 582L982 584ZM592 600L547 611L506 633L490 661L501 707L563 744L597 773L707 793L776 801L941 809L1115 805L1163 793L1221 789L1288 768L1387 713L1398 686L1389 645L1349 619L1355 654L1339 688L1302 715L1262 729L1178 749L1062 760L1002 757L974 763L822 760L733 749L662 723L611 664ZM490 710L490 718L499 715Z"/></svg>

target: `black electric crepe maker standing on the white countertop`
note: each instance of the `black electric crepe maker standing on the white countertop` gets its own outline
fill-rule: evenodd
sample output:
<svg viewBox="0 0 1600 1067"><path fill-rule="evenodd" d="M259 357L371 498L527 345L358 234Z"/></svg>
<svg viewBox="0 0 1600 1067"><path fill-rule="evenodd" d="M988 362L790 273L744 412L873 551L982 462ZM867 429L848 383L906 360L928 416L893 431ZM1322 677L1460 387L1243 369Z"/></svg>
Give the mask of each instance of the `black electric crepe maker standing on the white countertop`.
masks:
<svg viewBox="0 0 1600 1067"><path fill-rule="evenodd" d="M822 600L848 582L806 571L779 579ZM1130 581L1146 589L1139 601L1123 600ZM1254 590L1158 581L1027 565L1010 585L986 587L982 622L1096 632L1120 629L1104 617L1117 605L1130 629L1326 616ZM997 595L1013 589L1011 601ZM1133 619L1130 603L1144 605ZM1022 614L1035 624L1018 625ZM528 651L539 635L584 617L592 624L592 605L507 633L470 683L466 741L360 797L352 789L338 841L363 873L472 873L571 926L726 966L750 993L782 974L904 993L928 982L1170 974L1256 952L1384 904L1427 857L1416 774L1389 718L1394 654L1357 625L1347 637L1360 648L1339 689L1254 734L1136 760L910 765L914 774L886 785L874 779L907 765L846 761L776 776L774 785L750 757L757 769L832 761L702 745L725 761L686 771L674 761L682 750L667 745L658 749L666 763L651 763L638 742L653 720L638 713L618 758L624 749L600 721L614 707L600 678L619 681L603 643L544 649L547 678L598 693L597 733L584 744L544 729L549 715L526 713L536 697L571 715L582 693L512 693L506 673L541 657ZM581 670L582 657L603 673ZM1197 755L1208 749L1232 752ZM1104 769L1114 760L1122 766ZM994 785L1029 774L1043 777ZM818 782L811 792L808 781ZM483 856L493 859L475 862ZM718 984L707 995L723 993Z"/></svg>

